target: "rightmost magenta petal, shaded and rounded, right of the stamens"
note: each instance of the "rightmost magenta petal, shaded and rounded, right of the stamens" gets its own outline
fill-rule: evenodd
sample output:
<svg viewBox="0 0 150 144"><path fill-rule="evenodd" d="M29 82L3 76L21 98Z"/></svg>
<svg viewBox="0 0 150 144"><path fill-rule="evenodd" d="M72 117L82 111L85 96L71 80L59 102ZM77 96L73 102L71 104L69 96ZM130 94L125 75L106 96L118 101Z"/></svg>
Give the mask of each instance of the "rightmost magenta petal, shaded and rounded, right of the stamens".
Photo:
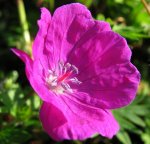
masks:
<svg viewBox="0 0 150 144"><path fill-rule="evenodd" d="M127 63L101 71L103 72L98 76L87 79L80 85L77 99L106 109L130 104L136 96L140 81L137 69L131 63Z"/></svg>

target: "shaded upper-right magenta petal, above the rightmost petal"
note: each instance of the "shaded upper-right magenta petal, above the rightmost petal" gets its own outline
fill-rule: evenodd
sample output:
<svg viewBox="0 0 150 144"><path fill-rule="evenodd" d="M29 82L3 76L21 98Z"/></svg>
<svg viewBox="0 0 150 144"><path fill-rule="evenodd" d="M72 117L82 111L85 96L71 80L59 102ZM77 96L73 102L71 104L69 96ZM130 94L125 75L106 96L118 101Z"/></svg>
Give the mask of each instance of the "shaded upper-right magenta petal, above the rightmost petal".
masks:
<svg viewBox="0 0 150 144"><path fill-rule="evenodd" d="M94 33L93 36L92 30L75 45L69 57L68 62L76 65L80 73L88 71L88 74L93 74L97 67L107 68L111 65L130 62L131 50L125 39L117 33L103 31Z"/></svg>

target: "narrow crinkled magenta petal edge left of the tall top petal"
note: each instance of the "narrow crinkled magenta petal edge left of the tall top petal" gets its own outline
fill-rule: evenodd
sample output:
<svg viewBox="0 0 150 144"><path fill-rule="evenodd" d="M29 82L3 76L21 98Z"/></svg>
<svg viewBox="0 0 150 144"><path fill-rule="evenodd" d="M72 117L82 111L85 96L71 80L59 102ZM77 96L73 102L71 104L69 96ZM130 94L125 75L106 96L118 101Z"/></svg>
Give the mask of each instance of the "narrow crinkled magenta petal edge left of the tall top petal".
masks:
<svg viewBox="0 0 150 144"><path fill-rule="evenodd" d="M45 48L45 39L47 37L48 28L51 24L51 15L46 8L41 8L41 19L38 20L39 31L33 43L33 59L39 61L39 65L43 65L45 70L49 69L52 65L52 53ZM50 65L51 64L51 65Z"/></svg>

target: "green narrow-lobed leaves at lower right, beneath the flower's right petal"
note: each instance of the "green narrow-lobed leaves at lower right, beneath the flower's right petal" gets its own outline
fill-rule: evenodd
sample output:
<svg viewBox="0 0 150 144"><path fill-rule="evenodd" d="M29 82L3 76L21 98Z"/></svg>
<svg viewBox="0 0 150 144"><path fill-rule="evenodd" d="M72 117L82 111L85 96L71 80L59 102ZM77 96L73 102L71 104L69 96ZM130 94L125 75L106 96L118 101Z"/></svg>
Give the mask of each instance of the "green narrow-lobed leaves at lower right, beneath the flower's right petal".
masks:
<svg viewBox="0 0 150 144"><path fill-rule="evenodd" d="M141 82L142 84L144 85L145 83ZM148 94L149 86L146 85L131 105L114 111L115 117L121 126L117 137L122 143L132 144L134 140L132 140L132 137L130 138L130 133L143 137L144 129L148 126L146 119L150 110Z"/></svg>

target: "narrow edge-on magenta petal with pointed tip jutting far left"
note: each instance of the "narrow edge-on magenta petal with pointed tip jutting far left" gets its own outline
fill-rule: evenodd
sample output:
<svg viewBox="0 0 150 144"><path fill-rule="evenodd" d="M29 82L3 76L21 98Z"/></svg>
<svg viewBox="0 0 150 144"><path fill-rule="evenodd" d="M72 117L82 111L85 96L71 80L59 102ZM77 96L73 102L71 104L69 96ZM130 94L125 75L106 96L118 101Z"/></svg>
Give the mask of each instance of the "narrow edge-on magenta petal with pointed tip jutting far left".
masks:
<svg viewBox="0 0 150 144"><path fill-rule="evenodd" d="M38 68L35 67L33 60L29 57L25 52L18 49L11 49L24 63L25 63L25 71L26 76L35 90L35 92L39 95L39 97L46 102L50 102L59 108L63 108L61 105L60 98L51 92L45 85L41 75L39 75Z"/></svg>

